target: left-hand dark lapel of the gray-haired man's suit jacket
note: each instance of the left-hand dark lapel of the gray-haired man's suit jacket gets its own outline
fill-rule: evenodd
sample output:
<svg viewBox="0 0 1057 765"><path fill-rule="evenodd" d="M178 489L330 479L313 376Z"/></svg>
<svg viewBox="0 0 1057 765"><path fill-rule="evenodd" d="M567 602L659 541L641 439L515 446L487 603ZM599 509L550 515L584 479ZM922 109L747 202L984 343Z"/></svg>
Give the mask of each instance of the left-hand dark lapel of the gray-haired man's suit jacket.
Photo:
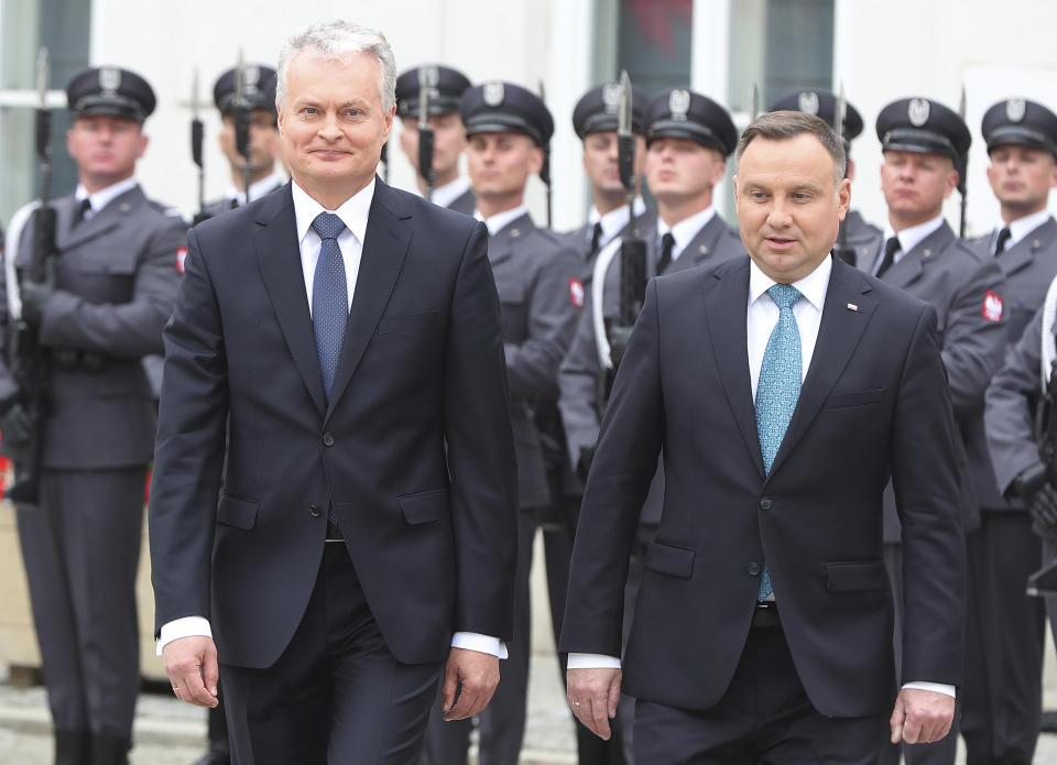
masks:
<svg viewBox="0 0 1057 765"><path fill-rule="evenodd" d="M316 356L316 336L305 292L305 273L301 265L301 242L297 241L290 184L280 192L262 197L257 223L259 228L253 234L253 250L264 288L272 300L297 371L323 414L327 409L326 394Z"/></svg>

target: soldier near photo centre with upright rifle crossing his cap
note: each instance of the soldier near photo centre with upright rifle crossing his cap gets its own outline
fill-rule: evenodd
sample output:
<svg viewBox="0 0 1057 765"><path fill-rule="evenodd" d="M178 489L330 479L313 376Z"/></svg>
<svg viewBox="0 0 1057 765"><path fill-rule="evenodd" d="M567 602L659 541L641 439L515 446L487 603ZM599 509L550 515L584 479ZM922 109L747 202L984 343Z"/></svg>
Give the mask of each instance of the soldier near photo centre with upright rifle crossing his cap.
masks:
<svg viewBox="0 0 1057 765"><path fill-rule="evenodd" d="M635 135L635 178L641 178L646 156L644 114L650 96L639 88L632 90L631 130ZM606 83L591 88L573 109L573 129L584 143L584 172L591 182L591 208L587 222L568 233L577 252L584 253L584 284L591 278L595 256L614 237L628 233L630 210L628 190L620 182L618 164L617 112L620 106L620 85ZM641 182L640 182L641 183ZM646 210L642 197L635 196L635 223L644 230L656 221Z"/></svg>

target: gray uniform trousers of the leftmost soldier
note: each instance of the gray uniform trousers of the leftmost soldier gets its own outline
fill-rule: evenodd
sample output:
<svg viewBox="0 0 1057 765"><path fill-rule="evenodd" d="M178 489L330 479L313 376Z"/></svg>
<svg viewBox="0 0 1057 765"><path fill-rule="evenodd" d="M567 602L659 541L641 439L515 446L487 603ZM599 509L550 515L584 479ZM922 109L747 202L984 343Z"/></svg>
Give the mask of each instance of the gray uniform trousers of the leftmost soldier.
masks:
<svg viewBox="0 0 1057 765"><path fill-rule="evenodd" d="M146 467L44 470L19 540L55 728L128 739L140 690L135 572Z"/></svg>

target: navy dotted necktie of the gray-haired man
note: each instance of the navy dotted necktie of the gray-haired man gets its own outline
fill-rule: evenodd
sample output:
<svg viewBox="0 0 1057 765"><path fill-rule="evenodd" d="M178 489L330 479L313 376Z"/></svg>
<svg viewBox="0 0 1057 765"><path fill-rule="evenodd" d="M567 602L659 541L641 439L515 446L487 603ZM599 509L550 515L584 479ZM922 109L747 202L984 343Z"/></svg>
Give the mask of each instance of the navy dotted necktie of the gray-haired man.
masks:
<svg viewBox="0 0 1057 765"><path fill-rule="evenodd" d="M334 373L338 369L338 356L345 339L345 325L349 320L349 289L345 280L345 261L338 236L345 223L333 212L320 212L312 221L312 228L323 240L319 261L312 281L312 326L316 332L316 354L323 371L323 390L330 400Z"/></svg>

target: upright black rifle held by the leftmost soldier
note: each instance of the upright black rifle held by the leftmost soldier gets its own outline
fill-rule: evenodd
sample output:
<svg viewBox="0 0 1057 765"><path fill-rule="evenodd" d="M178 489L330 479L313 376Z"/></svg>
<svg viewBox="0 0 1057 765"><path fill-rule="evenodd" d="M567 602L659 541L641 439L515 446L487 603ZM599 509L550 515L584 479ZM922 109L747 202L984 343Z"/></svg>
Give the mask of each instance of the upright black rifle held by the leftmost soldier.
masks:
<svg viewBox="0 0 1057 765"><path fill-rule="evenodd" d="M47 107L50 61L47 48L36 59L36 84L40 106L36 109L36 156L40 165L41 195L33 215L33 253L22 282L43 284L54 278L55 208L48 204L52 183L52 113ZM14 258L14 253L8 253ZM6 495L20 509L35 507L40 501L41 461L44 445L44 419L48 413L50 356L41 346L36 328L12 314L8 324L9 369L18 387L18 398L4 416L4 438L13 455L14 482Z"/></svg>

